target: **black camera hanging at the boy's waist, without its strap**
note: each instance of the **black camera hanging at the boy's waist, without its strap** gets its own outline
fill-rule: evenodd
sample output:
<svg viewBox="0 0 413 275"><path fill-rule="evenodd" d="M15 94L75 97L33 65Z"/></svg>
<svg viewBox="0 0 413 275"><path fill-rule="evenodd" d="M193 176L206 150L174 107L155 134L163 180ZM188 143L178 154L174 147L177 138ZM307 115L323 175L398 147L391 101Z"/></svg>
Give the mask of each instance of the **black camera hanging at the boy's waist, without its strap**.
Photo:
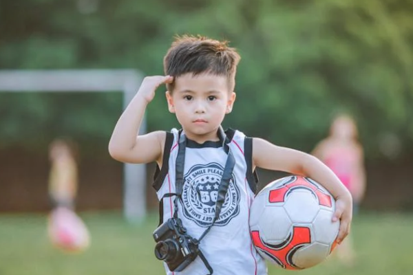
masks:
<svg viewBox="0 0 413 275"><path fill-rule="evenodd" d="M200 254L198 241L187 234L179 218L171 218L153 232L155 256L171 271L182 271Z"/></svg>

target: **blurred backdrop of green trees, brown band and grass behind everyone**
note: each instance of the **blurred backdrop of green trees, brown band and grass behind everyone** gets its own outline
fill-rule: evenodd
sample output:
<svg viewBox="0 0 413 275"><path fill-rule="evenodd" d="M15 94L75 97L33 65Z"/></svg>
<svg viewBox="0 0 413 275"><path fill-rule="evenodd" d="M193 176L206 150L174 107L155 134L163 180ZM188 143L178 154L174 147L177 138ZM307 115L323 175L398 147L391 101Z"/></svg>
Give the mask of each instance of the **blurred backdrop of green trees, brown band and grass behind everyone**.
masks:
<svg viewBox="0 0 413 275"><path fill-rule="evenodd" d="M0 72L134 69L162 74L176 34L226 39L242 56L224 127L310 153L332 118L350 113L367 189L353 225L357 259L303 274L413 270L413 1L0 0ZM147 166L144 223L123 219L123 165L107 143L119 91L0 91L0 274L163 274L151 232L158 201ZM163 91L147 131L177 127ZM76 142L76 211L92 244L65 254L47 241L56 137ZM260 187L280 176L260 170ZM270 274L284 274L270 268Z"/></svg>

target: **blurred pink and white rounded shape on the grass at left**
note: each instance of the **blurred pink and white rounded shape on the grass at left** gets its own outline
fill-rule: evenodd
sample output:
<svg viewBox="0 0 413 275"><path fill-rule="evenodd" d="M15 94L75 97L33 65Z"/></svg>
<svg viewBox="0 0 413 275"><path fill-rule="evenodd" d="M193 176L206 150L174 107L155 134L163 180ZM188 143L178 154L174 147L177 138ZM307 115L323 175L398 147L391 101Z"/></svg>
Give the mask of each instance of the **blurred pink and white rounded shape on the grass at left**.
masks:
<svg viewBox="0 0 413 275"><path fill-rule="evenodd" d="M50 213L48 233L50 241L66 252L82 252L90 244L89 231L78 215L59 207Z"/></svg>

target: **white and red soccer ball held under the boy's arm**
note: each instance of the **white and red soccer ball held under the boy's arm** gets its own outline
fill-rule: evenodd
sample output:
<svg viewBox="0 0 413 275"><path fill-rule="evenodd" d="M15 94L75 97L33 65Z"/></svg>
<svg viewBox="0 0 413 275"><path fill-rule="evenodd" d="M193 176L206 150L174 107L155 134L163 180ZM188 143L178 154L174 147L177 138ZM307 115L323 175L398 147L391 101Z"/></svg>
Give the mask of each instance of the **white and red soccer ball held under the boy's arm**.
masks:
<svg viewBox="0 0 413 275"><path fill-rule="evenodd" d="M277 179L255 196L250 230L258 253L286 270L324 261L334 250L339 221L332 222L335 199L313 179Z"/></svg>

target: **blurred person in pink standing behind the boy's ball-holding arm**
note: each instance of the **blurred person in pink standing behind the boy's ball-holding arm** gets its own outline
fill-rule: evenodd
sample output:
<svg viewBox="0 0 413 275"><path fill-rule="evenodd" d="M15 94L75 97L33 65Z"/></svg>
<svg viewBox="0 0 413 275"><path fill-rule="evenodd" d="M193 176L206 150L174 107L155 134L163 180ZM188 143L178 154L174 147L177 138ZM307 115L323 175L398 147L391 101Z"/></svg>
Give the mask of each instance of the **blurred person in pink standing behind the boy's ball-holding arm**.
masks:
<svg viewBox="0 0 413 275"><path fill-rule="evenodd" d="M313 153L339 177L350 190L353 198L353 213L357 214L359 204L366 190L363 147L358 140L357 124L347 113L337 115L330 125L330 134L321 140ZM338 258L348 265L354 263L352 240L348 237L337 249Z"/></svg>

